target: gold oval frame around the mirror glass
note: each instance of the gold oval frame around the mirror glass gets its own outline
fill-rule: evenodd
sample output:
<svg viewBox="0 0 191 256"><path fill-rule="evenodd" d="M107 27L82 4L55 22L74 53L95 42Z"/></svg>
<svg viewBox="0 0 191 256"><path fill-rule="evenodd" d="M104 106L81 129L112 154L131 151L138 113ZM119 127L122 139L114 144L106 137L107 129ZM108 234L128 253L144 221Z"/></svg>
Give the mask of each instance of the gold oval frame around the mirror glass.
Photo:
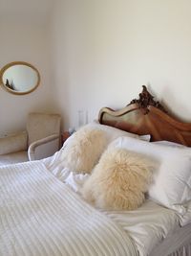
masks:
<svg viewBox="0 0 191 256"><path fill-rule="evenodd" d="M28 67L31 67L33 71L35 71L36 76L37 76L37 82L36 84L34 84L34 86L32 87L32 89L30 89L29 91L15 91L15 90L11 90L11 88L9 88L4 82L3 82L3 74L6 72L6 70L8 70L11 66L15 66L15 65L25 65ZM25 62L25 61L13 61L11 63L8 63L7 65L5 65L1 71L0 71L0 83L2 84L3 88L6 89L7 91L9 91L12 94L16 94L16 95L24 95L24 94L28 94L31 93L32 91L34 91L39 83L40 83L40 74L38 72L38 70L30 63Z"/></svg>

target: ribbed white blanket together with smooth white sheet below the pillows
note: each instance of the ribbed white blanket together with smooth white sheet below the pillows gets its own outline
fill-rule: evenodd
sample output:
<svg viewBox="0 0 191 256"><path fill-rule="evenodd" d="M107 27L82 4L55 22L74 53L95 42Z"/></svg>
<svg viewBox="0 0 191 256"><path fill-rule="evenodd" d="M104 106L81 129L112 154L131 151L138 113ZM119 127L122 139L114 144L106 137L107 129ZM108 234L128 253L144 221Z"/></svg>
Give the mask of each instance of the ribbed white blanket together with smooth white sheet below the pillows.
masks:
<svg viewBox="0 0 191 256"><path fill-rule="evenodd" d="M71 189L87 175L64 168L59 153L0 168L1 256L146 256L178 230L180 216L151 200L122 212L87 204Z"/></svg>

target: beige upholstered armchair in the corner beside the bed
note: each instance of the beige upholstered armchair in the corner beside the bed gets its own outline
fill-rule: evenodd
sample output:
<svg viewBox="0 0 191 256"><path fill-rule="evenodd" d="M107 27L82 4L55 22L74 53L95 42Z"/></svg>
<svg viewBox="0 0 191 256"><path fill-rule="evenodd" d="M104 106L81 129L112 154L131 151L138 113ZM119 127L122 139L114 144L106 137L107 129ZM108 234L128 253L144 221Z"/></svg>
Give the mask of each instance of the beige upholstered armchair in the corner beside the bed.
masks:
<svg viewBox="0 0 191 256"><path fill-rule="evenodd" d="M58 114L30 113L26 131L0 138L0 166L39 160L60 148Z"/></svg>

